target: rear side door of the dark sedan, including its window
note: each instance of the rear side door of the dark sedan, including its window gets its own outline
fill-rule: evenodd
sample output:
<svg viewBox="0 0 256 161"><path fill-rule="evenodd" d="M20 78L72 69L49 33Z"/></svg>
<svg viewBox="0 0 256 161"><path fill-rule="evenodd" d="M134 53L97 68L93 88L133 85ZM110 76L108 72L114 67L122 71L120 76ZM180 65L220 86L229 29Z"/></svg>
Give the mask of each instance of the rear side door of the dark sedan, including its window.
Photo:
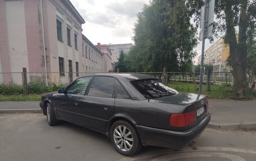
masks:
<svg viewBox="0 0 256 161"><path fill-rule="evenodd" d="M105 132L107 119L114 112L114 80L109 76L95 76L85 95L79 102L79 113L84 126Z"/></svg>

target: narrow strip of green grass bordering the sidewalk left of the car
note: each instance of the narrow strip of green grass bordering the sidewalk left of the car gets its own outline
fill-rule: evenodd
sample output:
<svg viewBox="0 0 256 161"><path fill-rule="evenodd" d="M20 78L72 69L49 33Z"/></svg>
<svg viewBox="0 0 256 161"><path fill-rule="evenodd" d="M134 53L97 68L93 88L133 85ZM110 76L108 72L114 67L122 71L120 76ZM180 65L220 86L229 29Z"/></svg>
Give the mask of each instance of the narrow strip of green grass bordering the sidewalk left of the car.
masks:
<svg viewBox="0 0 256 161"><path fill-rule="evenodd" d="M21 94L21 95L0 95L0 101L40 101L41 95Z"/></svg>

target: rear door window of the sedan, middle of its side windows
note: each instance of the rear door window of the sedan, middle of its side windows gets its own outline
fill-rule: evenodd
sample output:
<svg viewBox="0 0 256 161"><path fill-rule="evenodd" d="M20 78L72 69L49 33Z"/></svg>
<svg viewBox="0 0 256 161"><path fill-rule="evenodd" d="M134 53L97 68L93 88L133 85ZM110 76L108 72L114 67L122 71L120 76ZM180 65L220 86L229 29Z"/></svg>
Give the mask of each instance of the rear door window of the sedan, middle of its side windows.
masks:
<svg viewBox="0 0 256 161"><path fill-rule="evenodd" d="M90 86L89 96L113 98L114 82L113 77L96 76Z"/></svg>

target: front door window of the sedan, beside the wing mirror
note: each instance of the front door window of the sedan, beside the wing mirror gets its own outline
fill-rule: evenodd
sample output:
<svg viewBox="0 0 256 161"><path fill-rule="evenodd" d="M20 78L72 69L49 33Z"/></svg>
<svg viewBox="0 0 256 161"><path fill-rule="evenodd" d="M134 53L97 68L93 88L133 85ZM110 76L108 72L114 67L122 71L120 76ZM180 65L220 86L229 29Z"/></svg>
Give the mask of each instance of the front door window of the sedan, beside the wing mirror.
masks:
<svg viewBox="0 0 256 161"><path fill-rule="evenodd" d="M67 93L84 95L91 79L92 77L81 77L77 79L74 84L68 87Z"/></svg>

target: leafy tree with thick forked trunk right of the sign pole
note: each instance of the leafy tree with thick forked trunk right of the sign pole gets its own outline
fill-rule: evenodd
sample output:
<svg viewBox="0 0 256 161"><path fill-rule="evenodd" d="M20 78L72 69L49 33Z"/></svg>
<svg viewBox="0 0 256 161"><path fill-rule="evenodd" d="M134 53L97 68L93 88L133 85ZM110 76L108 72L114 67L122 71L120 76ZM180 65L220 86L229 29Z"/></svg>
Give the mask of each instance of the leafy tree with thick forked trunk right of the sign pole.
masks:
<svg viewBox="0 0 256 161"><path fill-rule="evenodd" d="M202 1L188 0L190 13L195 13L196 26L199 25ZM234 72L234 86L239 94L248 91L246 68L248 66L248 44L255 38L256 1L216 0L214 30L225 33L225 43L230 47L230 60Z"/></svg>

